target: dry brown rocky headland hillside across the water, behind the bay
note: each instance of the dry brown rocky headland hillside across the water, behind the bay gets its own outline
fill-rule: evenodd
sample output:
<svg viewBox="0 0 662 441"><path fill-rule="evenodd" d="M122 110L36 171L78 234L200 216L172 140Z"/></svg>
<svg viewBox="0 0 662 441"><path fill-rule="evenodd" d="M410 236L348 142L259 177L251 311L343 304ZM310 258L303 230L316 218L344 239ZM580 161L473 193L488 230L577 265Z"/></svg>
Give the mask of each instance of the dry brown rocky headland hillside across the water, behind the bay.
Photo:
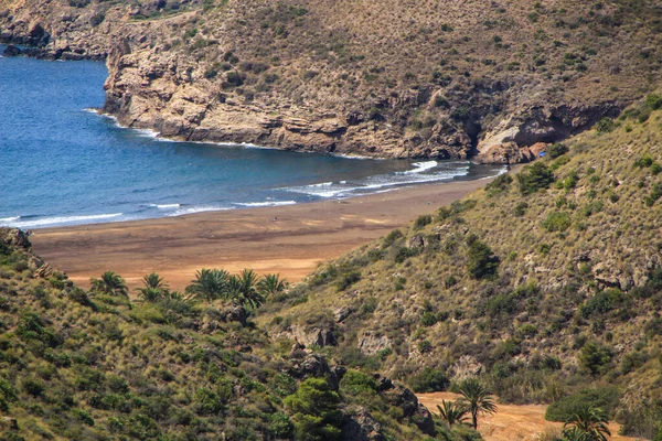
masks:
<svg viewBox="0 0 662 441"><path fill-rule="evenodd" d="M166 137L520 162L654 88L661 8L0 0L0 42L107 58L104 110Z"/></svg>

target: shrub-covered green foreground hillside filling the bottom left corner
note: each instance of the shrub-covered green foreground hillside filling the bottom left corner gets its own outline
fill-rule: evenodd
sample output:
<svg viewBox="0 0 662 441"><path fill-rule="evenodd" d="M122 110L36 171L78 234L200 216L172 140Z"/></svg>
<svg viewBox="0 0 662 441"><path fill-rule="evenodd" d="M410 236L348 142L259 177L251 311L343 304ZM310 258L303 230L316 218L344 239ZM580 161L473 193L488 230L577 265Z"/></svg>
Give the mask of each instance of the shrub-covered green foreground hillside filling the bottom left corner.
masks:
<svg viewBox="0 0 662 441"><path fill-rule="evenodd" d="M84 291L29 246L0 228L1 440L480 439L227 302Z"/></svg>

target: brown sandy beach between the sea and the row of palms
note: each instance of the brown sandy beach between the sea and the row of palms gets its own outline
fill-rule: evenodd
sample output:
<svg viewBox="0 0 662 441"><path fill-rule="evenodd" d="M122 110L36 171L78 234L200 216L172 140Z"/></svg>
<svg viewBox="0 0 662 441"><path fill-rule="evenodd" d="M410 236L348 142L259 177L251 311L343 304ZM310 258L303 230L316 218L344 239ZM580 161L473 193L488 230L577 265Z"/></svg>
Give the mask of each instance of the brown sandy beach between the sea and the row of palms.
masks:
<svg viewBox="0 0 662 441"><path fill-rule="evenodd" d="M183 289L201 268L252 268L296 282L321 261L433 213L489 181L420 185L345 201L34 230L33 248L84 287L104 271L130 288L151 271Z"/></svg>

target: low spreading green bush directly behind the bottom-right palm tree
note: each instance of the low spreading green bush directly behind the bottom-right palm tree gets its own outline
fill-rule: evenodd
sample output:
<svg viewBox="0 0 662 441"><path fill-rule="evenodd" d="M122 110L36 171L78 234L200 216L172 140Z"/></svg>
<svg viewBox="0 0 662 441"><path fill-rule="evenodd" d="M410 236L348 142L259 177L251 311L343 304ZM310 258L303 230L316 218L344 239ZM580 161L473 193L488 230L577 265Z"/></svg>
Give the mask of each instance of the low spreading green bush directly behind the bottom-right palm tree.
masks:
<svg viewBox="0 0 662 441"><path fill-rule="evenodd" d="M594 406L613 417L613 412L620 399L620 391L615 386L607 386L598 389L584 389L578 394L560 398L552 404L545 412L545 419L548 421L567 421L579 409L587 406Z"/></svg>

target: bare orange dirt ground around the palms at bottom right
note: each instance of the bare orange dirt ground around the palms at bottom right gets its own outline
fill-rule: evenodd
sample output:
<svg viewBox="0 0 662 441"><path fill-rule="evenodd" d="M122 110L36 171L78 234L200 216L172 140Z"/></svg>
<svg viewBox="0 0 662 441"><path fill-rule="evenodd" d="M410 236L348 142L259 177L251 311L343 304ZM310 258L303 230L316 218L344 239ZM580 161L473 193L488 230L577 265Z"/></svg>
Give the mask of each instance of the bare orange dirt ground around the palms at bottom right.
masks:
<svg viewBox="0 0 662 441"><path fill-rule="evenodd" d="M441 400L455 400L460 396L451 392L418 394L418 400L437 413L437 405ZM487 441L533 441L541 433L560 431L563 423L545 420L545 405L499 405L499 411L493 416L483 416L478 420L478 429ZM609 424L613 441L634 441L636 438L618 435L620 426Z"/></svg>

